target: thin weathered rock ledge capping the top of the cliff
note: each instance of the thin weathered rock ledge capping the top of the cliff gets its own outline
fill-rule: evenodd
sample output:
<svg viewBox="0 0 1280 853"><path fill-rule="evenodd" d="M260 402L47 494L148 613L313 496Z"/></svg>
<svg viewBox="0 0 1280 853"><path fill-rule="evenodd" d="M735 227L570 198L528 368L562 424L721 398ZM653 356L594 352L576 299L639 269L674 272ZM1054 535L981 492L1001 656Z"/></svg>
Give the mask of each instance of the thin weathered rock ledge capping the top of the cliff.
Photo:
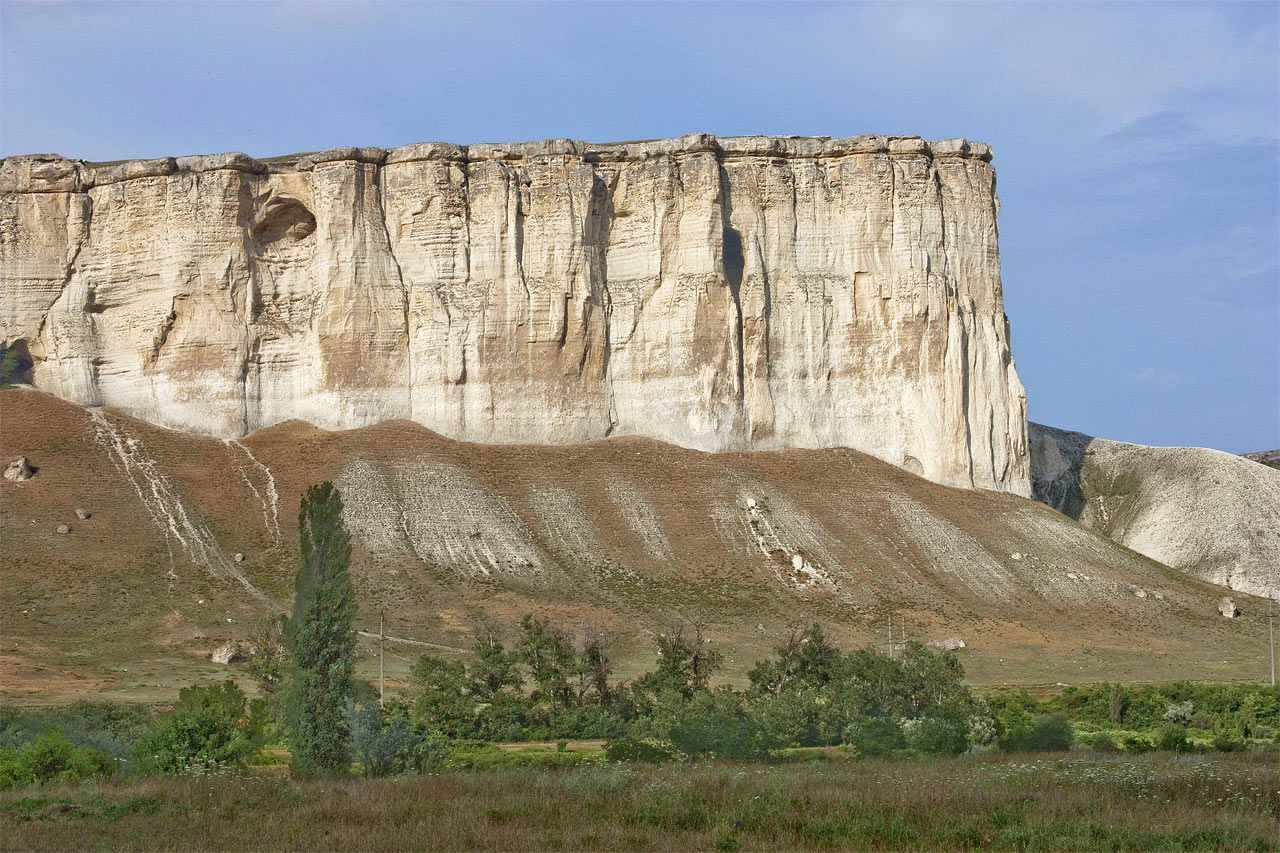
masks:
<svg viewBox="0 0 1280 853"><path fill-rule="evenodd" d="M449 160L457 163L538 161L550 158L579 158L585 163L627 163L658 156L714 154L719 159L780 158L824 159L858 154L890 154L925 158L963 158L991 161L991 146L964 138L928 142L919 136L861 134L829 136L727 136L689 133L667 140L630 142L584 142L540 140L536 142L415 142L398 149L337 147L310 154L291 154L257 160L239 151L197 154L150 160L92 163L59 154L19 154L0 164L0 192L82 192L95 186L134 178L150 178L179 172L232 169L252 174L310 172L330 163L370 163L389 167L397 163Z"/></svg>

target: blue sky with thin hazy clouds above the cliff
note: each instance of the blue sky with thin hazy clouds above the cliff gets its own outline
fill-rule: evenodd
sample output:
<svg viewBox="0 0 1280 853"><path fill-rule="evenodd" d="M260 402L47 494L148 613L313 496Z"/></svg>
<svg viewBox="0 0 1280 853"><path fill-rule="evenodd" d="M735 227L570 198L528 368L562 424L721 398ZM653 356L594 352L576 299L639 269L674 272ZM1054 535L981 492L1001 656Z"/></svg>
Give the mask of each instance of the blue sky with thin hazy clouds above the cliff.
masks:
<svg viewBox="0 0 1280 853"><path fill-rule="evenodd" d="M1280 446L1280 4L0 1L0 154L739 133L996 151L1033 420Z"/></svg>

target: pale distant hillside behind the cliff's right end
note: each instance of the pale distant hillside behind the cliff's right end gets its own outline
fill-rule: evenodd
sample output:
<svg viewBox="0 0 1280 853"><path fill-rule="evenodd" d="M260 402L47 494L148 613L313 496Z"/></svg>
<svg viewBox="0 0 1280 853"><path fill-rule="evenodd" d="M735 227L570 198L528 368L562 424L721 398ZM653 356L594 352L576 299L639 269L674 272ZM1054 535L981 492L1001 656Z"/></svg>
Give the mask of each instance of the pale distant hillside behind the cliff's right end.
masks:
<svg viewBox="0 0 1280 853"><path fill-rule="evenodd" d="M1280 471L1204 447L1147 447L1030 424L1036 498L1138 553L1280 597Z"/></svg>

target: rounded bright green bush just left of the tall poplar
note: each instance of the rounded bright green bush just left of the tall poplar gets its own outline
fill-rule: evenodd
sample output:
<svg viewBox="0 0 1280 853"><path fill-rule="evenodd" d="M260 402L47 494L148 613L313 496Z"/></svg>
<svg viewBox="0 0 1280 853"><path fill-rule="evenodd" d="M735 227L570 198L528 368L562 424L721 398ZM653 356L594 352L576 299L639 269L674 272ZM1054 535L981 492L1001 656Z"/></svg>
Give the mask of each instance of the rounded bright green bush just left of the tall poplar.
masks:
<svg viewBox="0 0 1280 853"><path fill-rule="evenodd" d="M138 742L138 762L156 772L183 772L210 766L243 765L261 747L261 721L250 712L244 692L228 679L189 686L178 694Z"/></svg>

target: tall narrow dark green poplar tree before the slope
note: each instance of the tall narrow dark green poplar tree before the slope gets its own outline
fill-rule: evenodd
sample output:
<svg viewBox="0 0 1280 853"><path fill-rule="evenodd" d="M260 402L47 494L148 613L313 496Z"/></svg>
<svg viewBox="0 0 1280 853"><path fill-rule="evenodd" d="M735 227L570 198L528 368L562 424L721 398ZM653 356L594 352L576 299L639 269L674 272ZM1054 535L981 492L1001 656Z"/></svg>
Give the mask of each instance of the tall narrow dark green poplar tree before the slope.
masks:
<svg viewBox="0 0 1280 853"><path fill-rule="evenodd" d="M293 616L285 626L293 672L285 724L293 768L338 774L351 765L343 704L356 661L355 593L347 573L351 538L342 525L342 498L333 483L307 489L298 514L302 566L294 581Z"/></svg>

